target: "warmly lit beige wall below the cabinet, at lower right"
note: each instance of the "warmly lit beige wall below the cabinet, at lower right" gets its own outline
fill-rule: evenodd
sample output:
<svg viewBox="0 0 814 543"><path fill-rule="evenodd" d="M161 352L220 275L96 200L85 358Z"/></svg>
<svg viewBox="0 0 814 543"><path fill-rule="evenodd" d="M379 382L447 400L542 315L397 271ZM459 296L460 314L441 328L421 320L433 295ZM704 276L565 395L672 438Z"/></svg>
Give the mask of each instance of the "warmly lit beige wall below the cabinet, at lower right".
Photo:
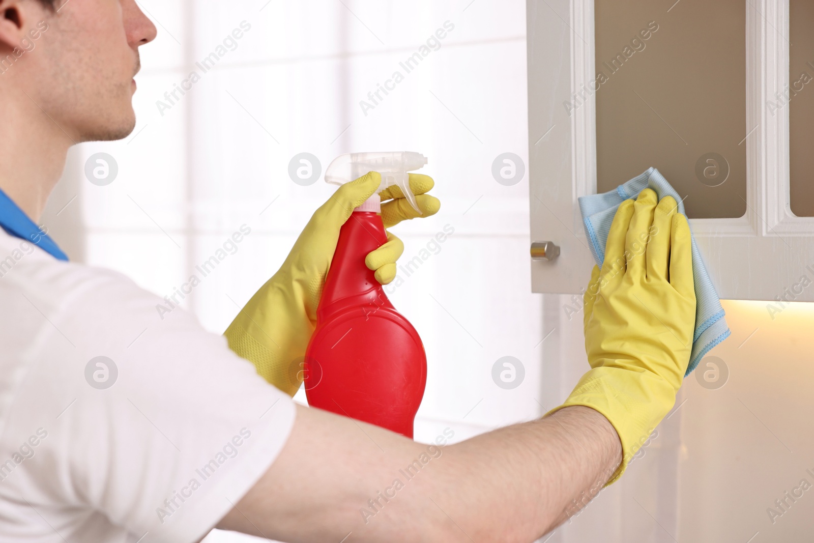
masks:
<svg viewBox="0 0 814 543"><path fill-rule="evenodd" d="M710 354L729 367L727 383L685 381L678 539L812 541L814 486L774 524L766 509L803 478L814 485L814 304L773 319L766 302L724 309L732 336Z"/></svg>

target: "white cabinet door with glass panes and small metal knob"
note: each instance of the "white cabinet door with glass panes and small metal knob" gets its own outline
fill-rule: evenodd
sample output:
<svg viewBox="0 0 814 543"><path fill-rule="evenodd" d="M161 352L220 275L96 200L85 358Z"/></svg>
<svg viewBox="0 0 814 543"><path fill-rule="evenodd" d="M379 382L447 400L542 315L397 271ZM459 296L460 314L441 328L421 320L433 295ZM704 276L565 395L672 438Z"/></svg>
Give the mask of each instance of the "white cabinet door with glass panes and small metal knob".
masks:
<svg viewBox="0 0 814 543"><path fill-rule="evenodd" d="M721 298L814 301L814 217L792 212L814 205L790 204L814 194L804 173L790 190L810 154L792 155L790 168L790 147L810 147L795 89L814 68L790 77L789 0L702 6L527 0L531 234L560 249L532 260L533 291L585 287L593 259L577 198L596 194L597 179L603 192L653 166L686 194Z"/></svg>

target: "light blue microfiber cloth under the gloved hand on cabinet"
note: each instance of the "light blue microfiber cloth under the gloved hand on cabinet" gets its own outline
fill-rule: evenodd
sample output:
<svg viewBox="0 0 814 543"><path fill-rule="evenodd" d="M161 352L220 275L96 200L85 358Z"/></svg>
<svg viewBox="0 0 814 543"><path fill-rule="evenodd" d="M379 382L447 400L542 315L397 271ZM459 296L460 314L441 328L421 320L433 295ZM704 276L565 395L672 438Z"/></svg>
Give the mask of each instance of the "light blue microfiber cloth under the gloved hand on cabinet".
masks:
<svg viewBox="0 0 814 543"><path fill-rule="evenodd" d="M684 202L676 190L670 186L667 179L655 168L633 177L630 181L619 185L616 190L610 190L601 195L581 196L580 212L585 226L585 234L591 244L593 260L602 266L605 260L605 243L610 231L610 223L616 214L619 204L626 199L636 199L642 190L647 187L655 190L659 199L672 196L678 202L678 212L685 215ZM698 366L698 362L707 352L729 337L729 326L724 319L724 308L720 305L720 298L712 286L707 268L698 246L693 237L693 276L695 281L695 333L693 335L693 350L689 356L689 366L685 377Z"/></svg>

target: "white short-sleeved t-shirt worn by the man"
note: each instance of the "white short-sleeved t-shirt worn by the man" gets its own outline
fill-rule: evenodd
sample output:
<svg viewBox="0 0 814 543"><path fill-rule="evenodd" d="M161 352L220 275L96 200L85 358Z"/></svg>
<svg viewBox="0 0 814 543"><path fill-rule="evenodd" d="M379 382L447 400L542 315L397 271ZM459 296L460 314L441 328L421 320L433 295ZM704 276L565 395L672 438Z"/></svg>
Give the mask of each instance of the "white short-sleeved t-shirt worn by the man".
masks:
<svg viewBox="0 0 814 543"><path fill-rule="evenodd" d="M0 230L0 541L198 541L274 462L291 398L157 304Z"/></svg>

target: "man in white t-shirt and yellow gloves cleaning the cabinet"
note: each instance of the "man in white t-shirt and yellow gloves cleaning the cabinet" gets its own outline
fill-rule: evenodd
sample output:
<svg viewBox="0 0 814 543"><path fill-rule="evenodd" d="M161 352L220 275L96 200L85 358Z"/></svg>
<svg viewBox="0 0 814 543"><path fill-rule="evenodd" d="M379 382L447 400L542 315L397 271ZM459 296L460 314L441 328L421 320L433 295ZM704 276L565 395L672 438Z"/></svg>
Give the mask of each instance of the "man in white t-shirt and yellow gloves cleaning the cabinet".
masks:
<svg viewBox="0 0 814 543"><path fill-rule="evenodd" d="M689 361L689 226L672 199L646 190L619 208L585 296L592 369L565 404L443 449L444 436L414 443L295 405L257 374L295 390L287 361L313 329L339 227L378 174L317 210L230 326L254 366L184 311L160 320L157 296L120 274L65 261L35 226L69 146L133 129L138 48L154 37L135 0L0 0L0 540L184 542L217 526L527 543L621 475ZM411 217L388 196L388 224ZM367 265L387 282L399 255L391 239Z"/></svg>

